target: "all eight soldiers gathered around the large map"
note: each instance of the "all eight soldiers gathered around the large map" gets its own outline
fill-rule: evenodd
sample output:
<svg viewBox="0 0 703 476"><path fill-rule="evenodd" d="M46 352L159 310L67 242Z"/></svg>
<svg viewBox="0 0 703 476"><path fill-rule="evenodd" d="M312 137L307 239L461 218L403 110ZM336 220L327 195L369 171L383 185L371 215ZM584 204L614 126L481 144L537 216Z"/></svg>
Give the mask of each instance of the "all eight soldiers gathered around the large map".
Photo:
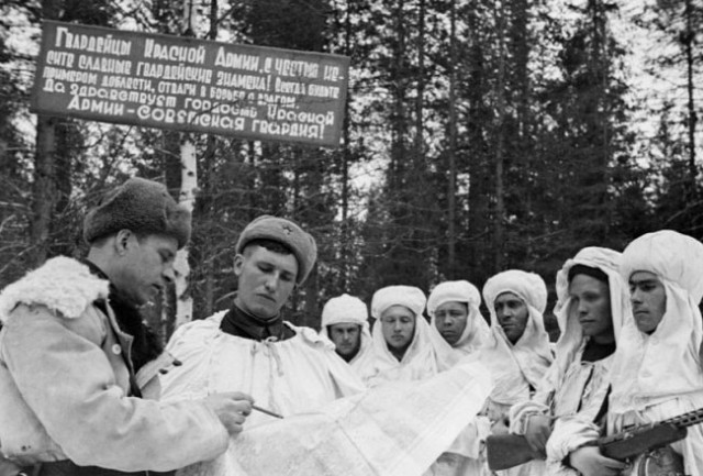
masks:
<svg viewBox="0 0 703 476"><path fill-rule="evenodd" d="M281 310L315 264L315 240L263 215L236 242L231 308L181 325L163 348L140 308L174 279L190 225L165 187L132 178L87 214L87 258L52 258L2 290L0 476L245 474L222 463L243 429L457 366L492 384L425 475L491 474L486 441L504 434L524 436L533 457L499 475L617 475L632 462L595 440L703 408L693 237L659 231L623 253L579 251L556 276L551 344L546 285L517 269L483 286L489 321L481 292L457 280L428 297L379 289L372 329L348 295L326 302L320 332L295 326ZM679 474L703 475L700 425L656 450Z"/></svg>

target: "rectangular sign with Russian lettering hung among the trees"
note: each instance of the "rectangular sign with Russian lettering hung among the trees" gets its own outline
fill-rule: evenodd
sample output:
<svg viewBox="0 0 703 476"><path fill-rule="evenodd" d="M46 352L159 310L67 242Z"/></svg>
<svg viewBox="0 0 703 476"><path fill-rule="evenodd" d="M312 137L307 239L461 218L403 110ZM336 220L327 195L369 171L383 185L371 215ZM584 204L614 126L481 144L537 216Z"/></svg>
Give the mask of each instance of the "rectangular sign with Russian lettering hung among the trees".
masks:
<svg viewBox="0 0 703 476"><path fill-rule="evenodd" d="M34 112L336 147L349 58L45 21Z"/></svg>

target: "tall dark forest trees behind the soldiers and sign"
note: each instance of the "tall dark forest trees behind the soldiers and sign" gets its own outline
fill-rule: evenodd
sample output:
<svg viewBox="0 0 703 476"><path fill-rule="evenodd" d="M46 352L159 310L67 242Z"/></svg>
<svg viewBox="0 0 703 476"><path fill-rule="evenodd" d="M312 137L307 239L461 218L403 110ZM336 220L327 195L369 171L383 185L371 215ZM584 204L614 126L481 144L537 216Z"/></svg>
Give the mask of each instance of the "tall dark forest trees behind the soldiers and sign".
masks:
<svg viewBox="0 0 703 476"><path fill-rule="evenodd" d="M342 144L32 114L45 19L347 55ZM263 213L317 240L286 311L297 324L319 326L342 292L480 289L507 268L538 273L554 302L555 273L583 246L703 235L702 40L703 0L2 0L0 288L82 256L86 208L125 178L178 197L190 141L194 319L231 305L236 237ZM175 292L150 312L165 335Z"/></svg>

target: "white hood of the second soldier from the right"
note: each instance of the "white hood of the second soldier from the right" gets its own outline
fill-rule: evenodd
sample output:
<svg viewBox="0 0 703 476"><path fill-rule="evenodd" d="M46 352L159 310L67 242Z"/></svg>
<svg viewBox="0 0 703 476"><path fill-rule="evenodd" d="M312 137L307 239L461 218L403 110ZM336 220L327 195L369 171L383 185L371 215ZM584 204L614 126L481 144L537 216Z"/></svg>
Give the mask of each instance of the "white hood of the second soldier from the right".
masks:
<svg viewBox="0 0 703 476"><path fill-rule="evenodd" d="M554 308L554 313L561 331L556 346L556 365L559 366L559 376L565 375L583 341L583 331L578 316L573 313L569 316L571 303L571 298L569 297L569 270L574 265L584 265L605 273L611 291L613 331L615 341L620 342L623 319L625 316L631 314L627 286L618 273L621 256L620 253L610 248L588 246L578 252L573 258L567 259L557 273L557 305Z"/></svg>

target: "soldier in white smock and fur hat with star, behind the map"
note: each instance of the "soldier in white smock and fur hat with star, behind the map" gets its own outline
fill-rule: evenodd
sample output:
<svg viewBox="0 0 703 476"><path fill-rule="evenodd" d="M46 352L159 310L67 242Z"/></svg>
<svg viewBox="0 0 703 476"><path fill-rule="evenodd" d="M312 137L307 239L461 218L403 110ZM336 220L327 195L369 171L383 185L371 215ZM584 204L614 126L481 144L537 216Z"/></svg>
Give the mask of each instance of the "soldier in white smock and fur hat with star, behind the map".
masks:
<svg viewBox="0 0 703 476"><path fill-rule="evenodd" d="M283 320L281 310L310 275L316 254L314 239L295 223L269 215L252 221L236 244L234 303L176 331L168 350L183 365L165 376L164 398L236 389L254 396L260 407L291 416L362 391L364 384L328 340ZM255 412L248 427L272 418ZM203 473L231 461L221 460ZM237 467L227 472L241 474Z"/></svg>

